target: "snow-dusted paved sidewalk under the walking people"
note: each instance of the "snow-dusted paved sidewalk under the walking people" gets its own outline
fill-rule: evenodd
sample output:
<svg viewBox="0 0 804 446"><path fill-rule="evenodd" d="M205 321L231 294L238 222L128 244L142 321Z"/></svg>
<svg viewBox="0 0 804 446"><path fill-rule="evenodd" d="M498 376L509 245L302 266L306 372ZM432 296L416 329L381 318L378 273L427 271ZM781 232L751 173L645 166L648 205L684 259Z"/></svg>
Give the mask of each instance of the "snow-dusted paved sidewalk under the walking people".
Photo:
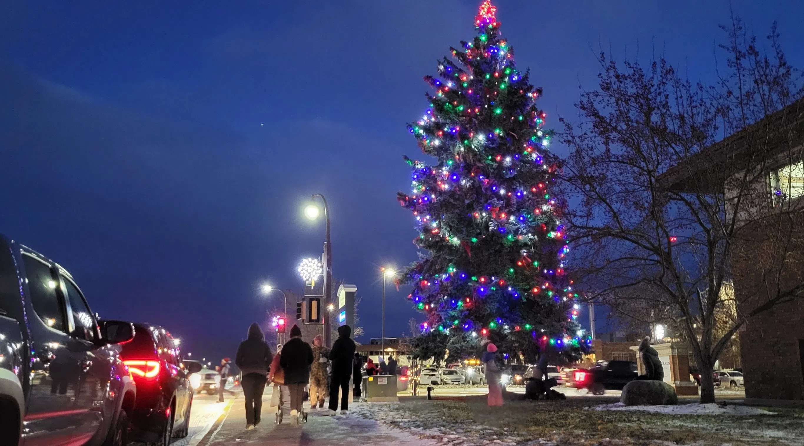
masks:
<svg viewBox="0 0 804 446"><path fill-rule="evenodd" d="M375 421L357 415L323 415L324 411L310 412L307 423L290 426L287 421L277 426L274 411L269 407L270 391L263 396L262 422L252 431L246 431L244 400L232 405L223 423L212 427L199 446L349 446L353 444L382 444L383 446L419 446L435 444L405 432L395 431ZM371 403L357 403L361 405Z"/></svg>

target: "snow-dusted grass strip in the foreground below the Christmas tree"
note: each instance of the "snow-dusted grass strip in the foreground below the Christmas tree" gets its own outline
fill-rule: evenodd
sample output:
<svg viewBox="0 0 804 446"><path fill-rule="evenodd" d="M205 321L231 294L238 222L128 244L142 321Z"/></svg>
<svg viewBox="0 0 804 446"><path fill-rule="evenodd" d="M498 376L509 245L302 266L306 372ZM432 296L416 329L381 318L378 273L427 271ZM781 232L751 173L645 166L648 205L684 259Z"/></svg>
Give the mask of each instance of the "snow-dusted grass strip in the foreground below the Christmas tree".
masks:
<svg viewBox="0 0 804 446"><path fill-rule="evenodd" d="M751 415L746 415L748 412L701 415L700 409L692 408L699 404L686 405L692 406L688 411L698 415L683 413L683 409L674 414L589 410L590 406L615 401L607 397L509 400L503 407L488 407L485 396L431 401L403 399L400 403L362 403L355 407L355 413L450 446L804 446L804 411L774 409L776 415L765 415L761 410L752 411Z"/></svg>

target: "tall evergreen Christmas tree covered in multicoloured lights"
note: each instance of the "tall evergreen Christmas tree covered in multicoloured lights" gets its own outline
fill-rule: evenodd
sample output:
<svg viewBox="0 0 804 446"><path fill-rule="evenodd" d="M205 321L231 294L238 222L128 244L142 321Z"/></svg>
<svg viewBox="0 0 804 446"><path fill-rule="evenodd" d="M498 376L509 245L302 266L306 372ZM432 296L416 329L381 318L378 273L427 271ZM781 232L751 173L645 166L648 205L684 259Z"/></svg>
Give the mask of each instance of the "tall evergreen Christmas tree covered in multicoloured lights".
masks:
<svg viewBox="0 0 804 446"><path fill-rule="evenodd" d="M438 63L441 79L425 77L435 95L408 125L437 158L432 166L405 158L413 192L399 199L427 251L406 272L409 297L427 315L425 335L490 338L508 353L554 346L572 356L590 341L575 322L577 295L564 270L563 203L551 193L558 159L535 106L541 89L516 68L496 10L483 2L478 35L450 48L452 59Z"/></svg>

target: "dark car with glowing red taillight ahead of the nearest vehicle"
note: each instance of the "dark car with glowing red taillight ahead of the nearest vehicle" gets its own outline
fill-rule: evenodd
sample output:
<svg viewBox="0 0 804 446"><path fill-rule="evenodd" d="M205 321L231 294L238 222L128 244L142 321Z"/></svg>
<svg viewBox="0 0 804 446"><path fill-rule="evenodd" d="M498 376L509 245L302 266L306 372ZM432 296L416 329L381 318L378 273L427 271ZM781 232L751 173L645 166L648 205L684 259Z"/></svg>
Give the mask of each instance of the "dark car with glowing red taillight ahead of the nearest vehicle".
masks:
<svg viewBox="0 0 804 446"><path fill-rule="evenodd" d="M172 438L190 432L193 388L190 375L198 362L182 366L181 353L170 333L158 325L135 323L134 338L123 344L121 358L137 383L131 413L131 440L168 446Z"/></svg>

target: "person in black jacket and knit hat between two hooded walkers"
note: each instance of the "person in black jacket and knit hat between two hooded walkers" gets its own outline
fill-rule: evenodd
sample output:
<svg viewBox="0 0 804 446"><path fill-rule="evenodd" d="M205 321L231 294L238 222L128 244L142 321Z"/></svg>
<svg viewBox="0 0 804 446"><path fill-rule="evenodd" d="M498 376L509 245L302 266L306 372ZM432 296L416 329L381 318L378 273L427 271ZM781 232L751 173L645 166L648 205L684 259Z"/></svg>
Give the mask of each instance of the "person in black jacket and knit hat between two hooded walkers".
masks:
<svg viewBox="0 0 804 446"><path fill-rule="evenodd" d="M310 364L313 363L313 349L301 340L301 329L293 325L290 340L282 347L279 365L285 370L285 385L290 391L290 424L297 426L301 403L304 403L304 388L310 383Z"/></svg>

